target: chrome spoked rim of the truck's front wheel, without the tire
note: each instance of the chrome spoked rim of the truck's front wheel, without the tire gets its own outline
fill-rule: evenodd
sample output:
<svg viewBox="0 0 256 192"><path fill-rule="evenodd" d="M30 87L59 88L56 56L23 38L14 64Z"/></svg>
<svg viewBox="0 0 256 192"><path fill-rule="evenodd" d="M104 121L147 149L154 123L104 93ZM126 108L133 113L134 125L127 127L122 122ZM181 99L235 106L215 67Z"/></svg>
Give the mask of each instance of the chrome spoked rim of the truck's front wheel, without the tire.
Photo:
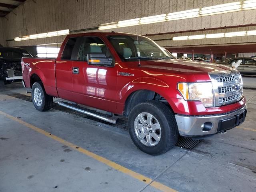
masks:
<svg viewBox="0 0 256 192"><path fill-rule="evenodd" d="M155 146L161 139L161 126L150 113L140 113L134 121L135 134L146 146Z"/></svg>

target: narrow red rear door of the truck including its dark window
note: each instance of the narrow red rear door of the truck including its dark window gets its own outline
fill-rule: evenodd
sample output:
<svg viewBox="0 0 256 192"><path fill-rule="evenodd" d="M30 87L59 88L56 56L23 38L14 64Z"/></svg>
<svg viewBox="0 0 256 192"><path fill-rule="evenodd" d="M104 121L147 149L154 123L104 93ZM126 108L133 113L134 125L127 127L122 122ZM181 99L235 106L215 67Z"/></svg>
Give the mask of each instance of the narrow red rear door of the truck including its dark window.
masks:
<svg viewBox="0 0 256 192"><path fill-rule="evenodd" d="M65 42L64 42L65 43ZM66 100L73 100L72 62L77 58L82 38L69 38L63 52L56 60L56 87L58 96Z"/></svg>

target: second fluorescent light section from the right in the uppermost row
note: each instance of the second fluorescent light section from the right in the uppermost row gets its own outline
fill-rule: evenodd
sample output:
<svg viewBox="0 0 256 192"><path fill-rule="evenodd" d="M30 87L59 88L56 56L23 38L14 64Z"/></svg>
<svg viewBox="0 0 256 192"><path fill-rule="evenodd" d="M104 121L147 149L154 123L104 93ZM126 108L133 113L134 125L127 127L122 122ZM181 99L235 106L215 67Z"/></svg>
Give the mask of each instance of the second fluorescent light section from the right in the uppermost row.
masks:
<svg viewBox="0 0 256 192"><path fill-rule="evenodd" d="M201 8L200 15L221 14L221 13L234 12L238 10L241 10L240 1Z"/></svg>

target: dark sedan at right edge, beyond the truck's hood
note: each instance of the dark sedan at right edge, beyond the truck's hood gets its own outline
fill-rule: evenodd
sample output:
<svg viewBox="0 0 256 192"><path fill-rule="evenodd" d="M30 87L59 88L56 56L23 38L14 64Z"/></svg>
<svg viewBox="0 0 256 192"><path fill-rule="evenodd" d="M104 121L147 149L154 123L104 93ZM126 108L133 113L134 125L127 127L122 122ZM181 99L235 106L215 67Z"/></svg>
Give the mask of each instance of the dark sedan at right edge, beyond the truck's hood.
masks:
<svg viewBox="0 0 256 192"><path fill-rule="evenodd" d="M236 57L221 62L220 64L231 66L233 62L237 62L238 60L242 60L242 63L237 68L241 74L256 75L256 58Z"/></svg>

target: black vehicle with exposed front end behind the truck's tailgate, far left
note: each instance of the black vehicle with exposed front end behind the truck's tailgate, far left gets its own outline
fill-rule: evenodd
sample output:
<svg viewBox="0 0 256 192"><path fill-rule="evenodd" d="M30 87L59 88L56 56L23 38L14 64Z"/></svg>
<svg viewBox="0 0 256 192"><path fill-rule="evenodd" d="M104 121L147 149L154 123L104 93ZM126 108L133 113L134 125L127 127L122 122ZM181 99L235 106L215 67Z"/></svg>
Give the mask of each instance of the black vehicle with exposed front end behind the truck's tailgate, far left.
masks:
<svg viewBox="0 0 256 192"><path fill-rule="evenodd" d="M0 80L4 80L4 84L22 80L22 57L32 57L32 55L23 48L0 48Z"/></svg>

